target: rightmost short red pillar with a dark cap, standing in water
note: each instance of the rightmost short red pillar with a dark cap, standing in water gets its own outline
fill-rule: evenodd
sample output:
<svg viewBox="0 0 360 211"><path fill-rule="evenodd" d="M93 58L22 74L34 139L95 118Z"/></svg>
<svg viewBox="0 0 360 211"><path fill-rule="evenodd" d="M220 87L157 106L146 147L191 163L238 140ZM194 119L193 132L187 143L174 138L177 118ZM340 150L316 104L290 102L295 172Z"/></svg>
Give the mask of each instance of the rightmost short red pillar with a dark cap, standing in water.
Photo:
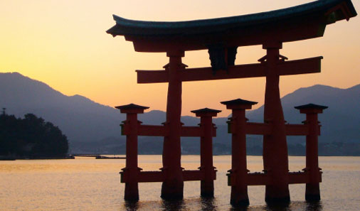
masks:
<svg viewBox="0 0 360 211"><path fill-rule="evenodd" d="M306 114L305 124L309 125L309 134L306 136L306 168L309 173L309 183L306 183L305 199L307 201L320 200L321 174L319 168L318 156L318 136L320 134L319 121L317 114L321 114L322 110L327 109L325 106L317 104L306 104L295 109L300 109L301 114Z"/></svg>

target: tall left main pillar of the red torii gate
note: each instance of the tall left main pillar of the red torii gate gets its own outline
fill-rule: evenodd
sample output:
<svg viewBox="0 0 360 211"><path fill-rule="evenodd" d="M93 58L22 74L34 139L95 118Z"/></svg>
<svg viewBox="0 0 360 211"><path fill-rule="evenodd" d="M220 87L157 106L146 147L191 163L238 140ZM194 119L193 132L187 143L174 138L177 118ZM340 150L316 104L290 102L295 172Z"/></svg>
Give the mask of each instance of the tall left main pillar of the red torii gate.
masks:
<svg viewBox="0 0 360 211"><path fill-rule="evenodd" d="M181 80L179 71L185 68L181 63L184 51L168 52L169 64L165 65L169 73L169 87L166 104L167 134L164 136L162 164L165 180L162 183L162 195L165 200L183 198L184 178L181 169Z"/></svg>

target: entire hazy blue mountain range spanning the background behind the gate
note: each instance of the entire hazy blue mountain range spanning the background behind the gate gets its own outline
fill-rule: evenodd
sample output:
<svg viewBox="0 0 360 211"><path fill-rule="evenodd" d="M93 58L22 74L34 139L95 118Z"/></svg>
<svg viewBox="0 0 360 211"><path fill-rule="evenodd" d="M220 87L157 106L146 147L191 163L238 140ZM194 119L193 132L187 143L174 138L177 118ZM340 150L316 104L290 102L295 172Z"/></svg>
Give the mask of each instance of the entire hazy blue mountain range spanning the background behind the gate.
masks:
<svg viewBox="0 0 360 211"><path fill-rule="evenodd" d="M319 114L322 122L320 144L324 151L329 151L329 144L360 144L360 85L349 89L339 89L324 85L300 88L282 97L285 120L292 124L300 124L305 114L300 114L295 106L307 103L322 104L329 107L324 114ZM66 96L43 82L32 80L23 75L0 73L0 107L6 107L8 114L22 117L33 113L46 121L59 126L68 136L70 148L75 153L125 153L125 137L120 136L120 121L125 119L117 109L80 95ZM165 121L165 113L153 110L139 115L144 124L161 124ZM250 121L263 120L263 107L247 112ZM218 136L214 139L215 153L230 153L231 135L227 133L227 118L214 119L218 126ZM196 125L196 117L182 117L185 125ZM261 136L248 137L249 151L261 153ZM198 153L199 144L196 138L181 141L184 153ZM304 151L304 137L288 137L290 151L292 146L297 153L298 148ZM334 145L334 144L333 144ZM339 147L336 145L334 147ZM356 145L357 146L357 145ZM333 148L334 148L333 147ZM319 146L321 151L321 147ZM161 137L140 137L140 153L161 153Z"/></svg>

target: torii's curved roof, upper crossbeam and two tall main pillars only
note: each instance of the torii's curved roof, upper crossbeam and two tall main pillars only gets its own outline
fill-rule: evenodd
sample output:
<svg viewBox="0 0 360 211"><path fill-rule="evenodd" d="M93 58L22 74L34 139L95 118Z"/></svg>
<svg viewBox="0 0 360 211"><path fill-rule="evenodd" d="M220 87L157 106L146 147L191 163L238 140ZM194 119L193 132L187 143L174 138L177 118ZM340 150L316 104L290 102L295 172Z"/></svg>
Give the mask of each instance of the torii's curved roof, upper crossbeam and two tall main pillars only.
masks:
<svg viewBox="0 0 360 211"><path fill-rule="evenodd" d="M137 70L138 83L168 82L166 130L164 136L162 198L183 198L181 169L181 83L266 77L264 121L270 132L263 132L264 171L271 172L265 183L267 202L289 201L289 173L286 126L280 102L280 75L321 71L322 57L286 61L280 55L282 43L324 35L325 27L356 16L351 0L319 0L288 9L245 16L198 21L132 21L114 15L116 25L107 33L125 36L138 52L164 52L169 64L164 70ZM234 65L240 46L263 45L266 55L260 63ZM187 50L206 50L211 67L187 68L181 63ZM321 175L320 175L321 176ZM233 204L241 203L232 202Z"/></svg>

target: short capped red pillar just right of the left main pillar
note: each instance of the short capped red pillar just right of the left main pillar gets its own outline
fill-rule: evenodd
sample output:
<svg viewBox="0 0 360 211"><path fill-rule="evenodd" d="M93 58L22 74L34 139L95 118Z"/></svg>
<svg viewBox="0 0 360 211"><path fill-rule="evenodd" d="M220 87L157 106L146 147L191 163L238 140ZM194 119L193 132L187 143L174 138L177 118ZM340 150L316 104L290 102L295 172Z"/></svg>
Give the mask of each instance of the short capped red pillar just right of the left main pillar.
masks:
<svg viewBox="0 0 360 211"><path fill-rule="evenodd" d="M201 196L213 198L213 180L216 178L216 170L213 167L213 117L221 111L215 109L198 109L191 111L200 117L202 131L200 142L200 171L204 178L201 180Z"/></svg>

